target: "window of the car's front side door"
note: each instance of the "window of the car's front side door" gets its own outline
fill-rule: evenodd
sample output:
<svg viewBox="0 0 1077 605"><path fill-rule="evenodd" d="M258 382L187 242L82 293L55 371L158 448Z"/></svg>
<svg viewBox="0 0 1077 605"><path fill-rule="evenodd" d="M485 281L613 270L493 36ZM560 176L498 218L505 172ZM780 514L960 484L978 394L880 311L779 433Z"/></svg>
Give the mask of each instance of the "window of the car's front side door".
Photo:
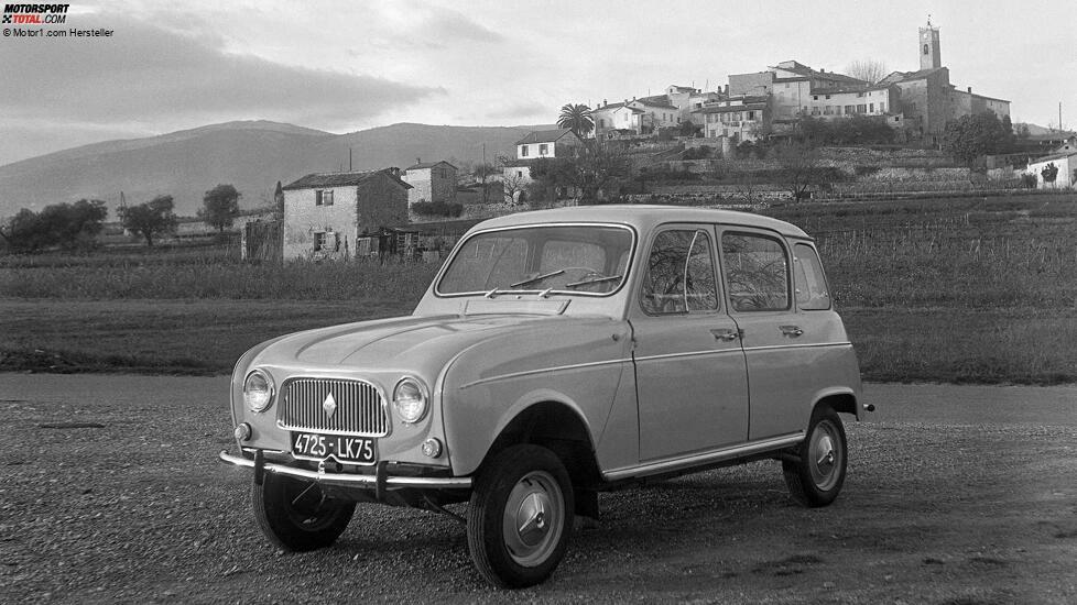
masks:
<svg viewBox="0 0 1077 605"><path fill-rule="evenodd" d="M643 310L660 315L717 309L718 285L710 250L710 238L699 229L659 233L643 277Z"/></svg>

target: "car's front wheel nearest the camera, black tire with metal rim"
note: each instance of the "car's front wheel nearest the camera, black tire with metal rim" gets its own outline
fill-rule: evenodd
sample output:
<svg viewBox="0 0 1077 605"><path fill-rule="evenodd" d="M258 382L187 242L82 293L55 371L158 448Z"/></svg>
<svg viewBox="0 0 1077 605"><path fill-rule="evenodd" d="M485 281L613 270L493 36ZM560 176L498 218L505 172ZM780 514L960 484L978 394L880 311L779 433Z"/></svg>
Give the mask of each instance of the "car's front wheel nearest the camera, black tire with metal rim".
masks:
<svg viewBox="0 0 1077 605"><path fill-rule="evenodd" d="M573 529L573 484L553 452L513 446L488 461L471 493L467 543L491 584L522 588L561 563Z"/></svg>

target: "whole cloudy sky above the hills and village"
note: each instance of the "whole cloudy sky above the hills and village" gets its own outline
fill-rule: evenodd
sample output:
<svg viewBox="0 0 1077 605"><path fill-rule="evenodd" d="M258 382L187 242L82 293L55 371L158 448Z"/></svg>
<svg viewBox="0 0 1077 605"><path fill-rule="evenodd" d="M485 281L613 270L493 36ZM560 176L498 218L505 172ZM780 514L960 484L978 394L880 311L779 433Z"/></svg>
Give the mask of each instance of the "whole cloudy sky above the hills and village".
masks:
<svg viewBox="0 0 1077 605"><path fill-rule="evenodd" d="M44 28L111 37L0 37L0 165L231 120L552 123L786 59L914 70L928 14L951 84L1011 100L1014 122L1057 125L1060 101L1077 124L1073 0L87 1Z"/></svg>

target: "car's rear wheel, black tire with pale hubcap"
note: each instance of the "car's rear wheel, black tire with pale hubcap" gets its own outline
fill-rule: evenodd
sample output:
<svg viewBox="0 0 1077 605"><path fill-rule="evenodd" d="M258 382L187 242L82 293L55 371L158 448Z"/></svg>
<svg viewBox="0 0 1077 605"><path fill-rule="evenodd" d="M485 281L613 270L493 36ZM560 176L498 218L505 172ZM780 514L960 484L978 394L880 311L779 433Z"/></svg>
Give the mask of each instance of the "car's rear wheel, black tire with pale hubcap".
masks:
<svg viewBox="0 0 1077 605"><path fill-rule="evenodd" d="M813 508L833 503L845 483L848 452L838 414L829 407L817 408L812 414L807 438L794 452L796 460L782 461L793 499Z"/></svg>

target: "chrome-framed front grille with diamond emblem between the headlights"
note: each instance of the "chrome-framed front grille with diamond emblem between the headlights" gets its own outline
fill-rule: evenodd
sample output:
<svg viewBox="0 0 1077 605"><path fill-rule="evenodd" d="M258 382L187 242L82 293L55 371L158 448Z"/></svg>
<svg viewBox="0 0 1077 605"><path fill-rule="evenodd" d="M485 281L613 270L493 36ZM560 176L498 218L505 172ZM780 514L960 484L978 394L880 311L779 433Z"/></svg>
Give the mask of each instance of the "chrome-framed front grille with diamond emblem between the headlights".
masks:
<svg viewBox="0 0 1077 605"><path fill-rule="evenodd" d="M293 378L281 391L278 425L283 429L362 437L389 435L385 402L369 383ZM330 395L336 405L331 415L325 405Z"/></svg>

